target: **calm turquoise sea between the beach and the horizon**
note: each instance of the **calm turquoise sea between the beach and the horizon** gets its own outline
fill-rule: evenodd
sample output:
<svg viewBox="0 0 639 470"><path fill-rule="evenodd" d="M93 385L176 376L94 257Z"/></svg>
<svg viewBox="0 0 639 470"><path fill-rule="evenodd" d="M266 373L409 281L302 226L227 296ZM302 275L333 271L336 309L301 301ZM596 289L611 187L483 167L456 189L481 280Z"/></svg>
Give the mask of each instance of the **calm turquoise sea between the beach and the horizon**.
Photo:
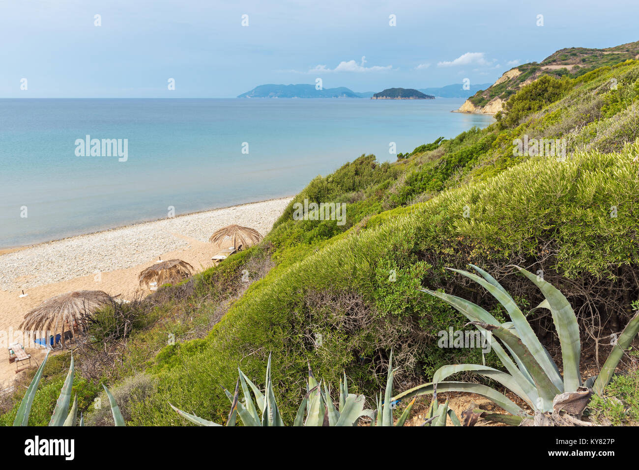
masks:
<svg viewBox="0 0 639 470"><path fill-rule="evenodd" d="M0 247L293 195L362 153L396 160L390 142L493 121L450 112L463 101L3 99ZM86 135L127 139L126 161L76 155Z"/></svg>

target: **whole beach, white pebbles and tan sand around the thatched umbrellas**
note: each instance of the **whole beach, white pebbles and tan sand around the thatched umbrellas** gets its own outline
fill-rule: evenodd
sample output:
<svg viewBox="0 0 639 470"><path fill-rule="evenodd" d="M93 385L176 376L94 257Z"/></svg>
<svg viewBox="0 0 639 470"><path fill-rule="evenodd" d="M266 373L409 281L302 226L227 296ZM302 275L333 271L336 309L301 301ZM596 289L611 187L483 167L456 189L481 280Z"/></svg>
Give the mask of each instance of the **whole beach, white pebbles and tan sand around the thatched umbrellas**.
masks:
<svg viewBox="0 0 639 470"><path fill-rule="evenodd" d="M118 229L12 248L0 252L0 333L18 331L29 310L57 294L82 289L132 298L139 291L137 275L158 257L179 258L199 272L212 266L216 250L211 234L230 224L266 235L291 201L290 197L213 209ZM27 296L20 298L24 290ZM148 292L148 291L140 291ZM3 338L0 337L0 340ZM12 341L9 341L12 342ZM0 356L0 390L10 386L15 364ZM45 351L25 345L41 363Z"/></svg>

